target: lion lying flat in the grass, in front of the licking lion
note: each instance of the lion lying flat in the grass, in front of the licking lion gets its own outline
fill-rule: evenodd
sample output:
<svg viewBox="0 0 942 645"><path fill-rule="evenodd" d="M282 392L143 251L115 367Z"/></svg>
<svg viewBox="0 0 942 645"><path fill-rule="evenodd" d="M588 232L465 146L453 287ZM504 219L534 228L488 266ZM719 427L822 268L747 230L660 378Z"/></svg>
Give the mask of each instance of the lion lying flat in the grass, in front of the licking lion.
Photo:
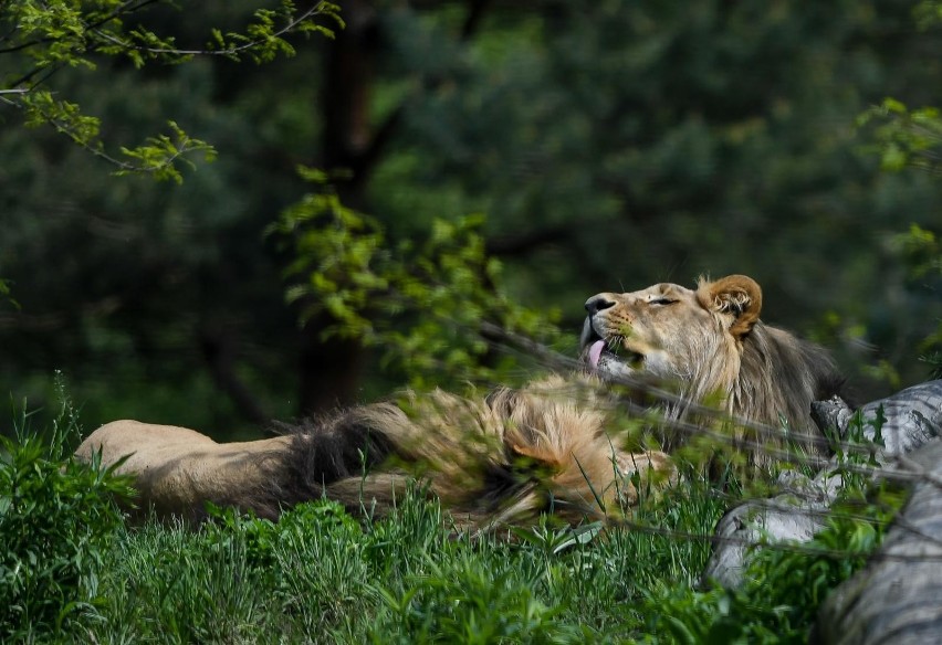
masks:
<svg viewBox="0 0 942 645"><path fill-rule="evenodd" d="M419 475L462 525L526 524L544 511L576 522L634 504L635 473L672 472L662 453L620 448L605 432L604 398L580 402L590 392L585 384L551 378L488 398L438 391L407 405L411 415L378 403L290 435L231 444L116 421L93 432L77 455L102 451L112 464L130 454L118 472L136 477L144 507L189 519L206 501L275 518L282 507L322 496L381 515Z"/></svg>

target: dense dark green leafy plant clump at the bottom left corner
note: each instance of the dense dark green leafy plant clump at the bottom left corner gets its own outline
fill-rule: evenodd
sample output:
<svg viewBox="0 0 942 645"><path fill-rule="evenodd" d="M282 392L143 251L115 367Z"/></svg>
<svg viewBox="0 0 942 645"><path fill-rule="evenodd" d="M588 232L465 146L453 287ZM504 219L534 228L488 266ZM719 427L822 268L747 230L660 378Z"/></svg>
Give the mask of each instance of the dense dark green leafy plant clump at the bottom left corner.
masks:
<svg viewBox="0 0 942 645"><path fill-rule="evenodd" d="M115 497L130 496L116 464L70 456L77 420L66 399L52 437L29 430L0 437L0 639L44 639L93 621L100 585L122 526Z"/></svg>

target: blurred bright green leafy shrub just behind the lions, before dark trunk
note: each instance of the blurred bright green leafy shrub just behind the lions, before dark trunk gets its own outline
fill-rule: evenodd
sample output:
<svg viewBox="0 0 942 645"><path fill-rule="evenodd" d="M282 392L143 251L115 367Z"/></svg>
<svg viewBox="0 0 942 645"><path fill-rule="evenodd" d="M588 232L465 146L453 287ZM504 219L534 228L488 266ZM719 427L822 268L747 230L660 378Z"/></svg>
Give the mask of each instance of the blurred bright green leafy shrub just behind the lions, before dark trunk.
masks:
<svg viewBox="0 0 942 645"><path fill-rule="evenodd" d="M327 315L322 332L383 351L409 384L505 382L513 360L490 353L485 326L543 342L558 339L557 314L509 297L501 264L485 252L483 216L435 219L420 240L393 246L385 226L345 207L325 173L302 168L315 186L270 233L289 249L289 303L302 320Z"/></svg>

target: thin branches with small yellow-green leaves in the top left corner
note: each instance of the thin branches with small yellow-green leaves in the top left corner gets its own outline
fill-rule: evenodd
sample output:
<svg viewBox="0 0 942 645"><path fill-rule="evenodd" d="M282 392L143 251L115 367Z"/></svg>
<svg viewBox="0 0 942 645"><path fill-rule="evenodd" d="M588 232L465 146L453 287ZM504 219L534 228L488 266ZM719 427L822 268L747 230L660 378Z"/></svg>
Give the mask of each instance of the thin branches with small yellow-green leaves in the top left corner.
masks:
<svg viewBox="0 0 942 645"><path fill-rule="evenodd" d="M249 55L257 63L278 55L294 55L286 36L294 33L320 33L327 38L334 31L315 19L326 18L343 28L339 7L317 2L300 11L292 0L282 0L276 9L261 8L244 33L212 30L205 49L180 49L172 36L158 35L144 27L126 28L124 19L151 4L170 4L166 0L63 0L43 2L22 0L4 4L0 14L0 56L12 59L11 72L0 76L0 106L22 110L27 126L51 126L95 157L116 168L117 175L150 175L156 179L180 182L180 165L195 167L190 160L202 154L211 161L216 151L208 142L187 135L175 121L168 121L169 134L149 137L136 147L122 147L121 155L105 149L101 139L101 119L85 115L81 107L60 98L50 82L66 67L95 70L100 56L127 56L136 67L148 61L178 64L196 55L220 55L234 61Z"/></svg>

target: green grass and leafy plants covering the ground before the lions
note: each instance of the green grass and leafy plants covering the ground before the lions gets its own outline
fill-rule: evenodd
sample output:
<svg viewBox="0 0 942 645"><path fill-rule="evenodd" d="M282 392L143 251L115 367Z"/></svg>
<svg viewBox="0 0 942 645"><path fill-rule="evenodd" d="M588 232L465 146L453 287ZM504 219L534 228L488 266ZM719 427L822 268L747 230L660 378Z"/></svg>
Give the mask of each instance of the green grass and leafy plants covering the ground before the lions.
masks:
<svg viewBox="0 0 942 645"><path fill-rule="evenodd" d="M744 590L698 591L731 501L697 472L606 530L469 536L416 490L384 519L320 500L132 527L126 482L63 450L76 427L66 403L51 438L21 424L0 451L4 643L800 643L889 517L837 518L823 554L768 549Z"/></svg>

